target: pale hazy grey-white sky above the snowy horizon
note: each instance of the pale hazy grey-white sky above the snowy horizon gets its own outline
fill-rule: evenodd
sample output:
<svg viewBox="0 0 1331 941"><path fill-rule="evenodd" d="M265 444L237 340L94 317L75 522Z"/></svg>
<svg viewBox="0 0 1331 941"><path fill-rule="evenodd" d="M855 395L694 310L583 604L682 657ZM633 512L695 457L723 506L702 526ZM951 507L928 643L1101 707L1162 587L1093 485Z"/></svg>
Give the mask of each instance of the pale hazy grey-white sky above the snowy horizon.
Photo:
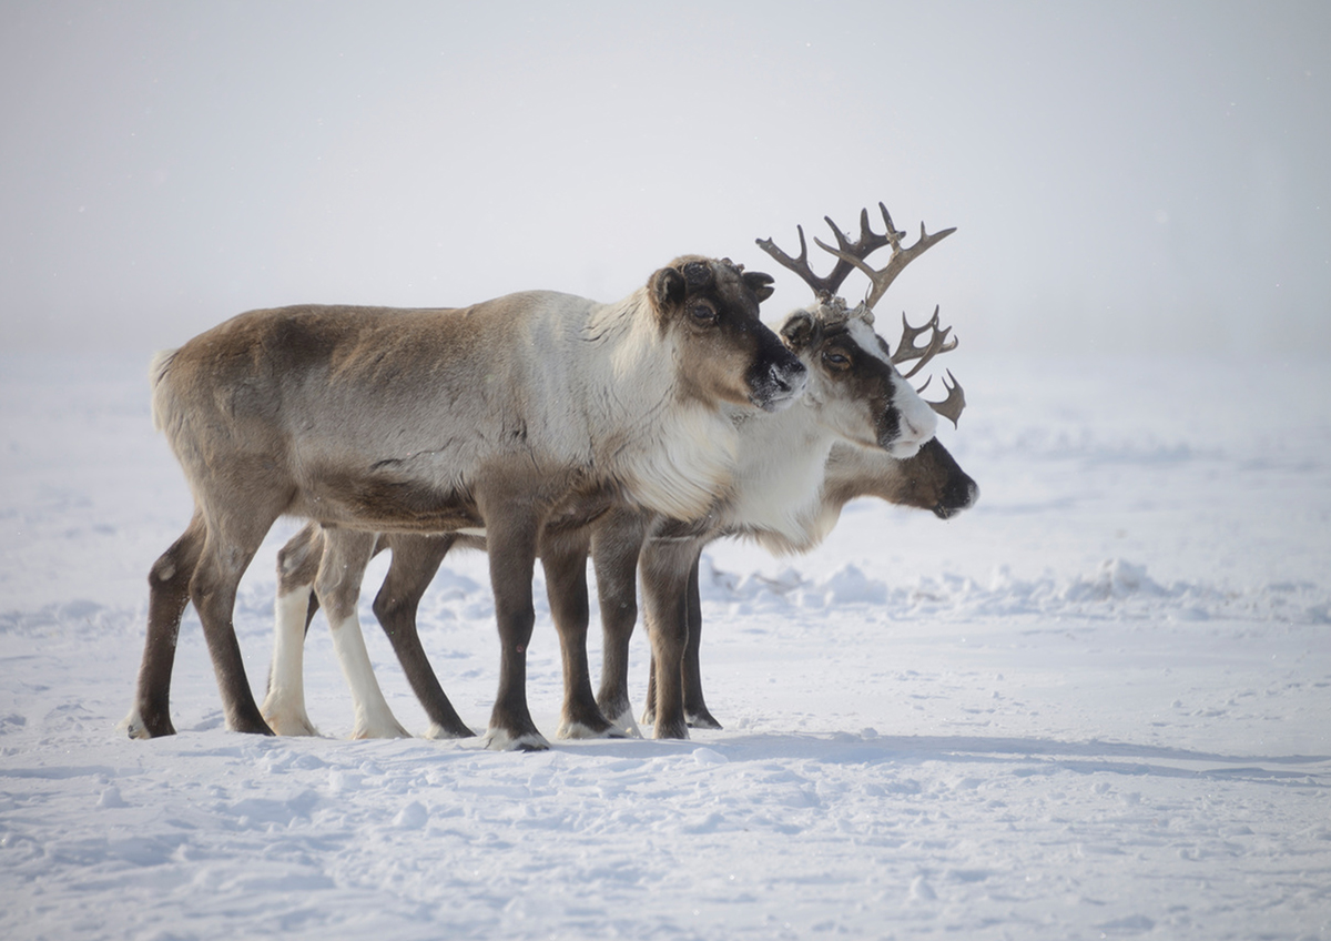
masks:
<svg viewBox="0 0 1331 941"><path fill-rule="evenodd" d="M9 0L0 76L7 350L689 252L776 319L753 240L881 200L973 355L1331 355L1328 3Z"/></svg>

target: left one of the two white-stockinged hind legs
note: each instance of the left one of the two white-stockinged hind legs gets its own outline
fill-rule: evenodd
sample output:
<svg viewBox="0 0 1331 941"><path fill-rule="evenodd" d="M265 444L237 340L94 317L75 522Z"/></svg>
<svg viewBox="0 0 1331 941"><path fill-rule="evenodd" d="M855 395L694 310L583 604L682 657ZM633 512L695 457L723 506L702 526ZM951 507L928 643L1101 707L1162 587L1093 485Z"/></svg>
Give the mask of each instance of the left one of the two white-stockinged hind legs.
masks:
<svg viewBox="0 0 1331 941"><path fill-rule="evenodd" d="M323 558L323 530L309 523L277 552L273 664L260 712L278 735L318 735L305 711L305 635L318 611L314 579Z"/></svg>

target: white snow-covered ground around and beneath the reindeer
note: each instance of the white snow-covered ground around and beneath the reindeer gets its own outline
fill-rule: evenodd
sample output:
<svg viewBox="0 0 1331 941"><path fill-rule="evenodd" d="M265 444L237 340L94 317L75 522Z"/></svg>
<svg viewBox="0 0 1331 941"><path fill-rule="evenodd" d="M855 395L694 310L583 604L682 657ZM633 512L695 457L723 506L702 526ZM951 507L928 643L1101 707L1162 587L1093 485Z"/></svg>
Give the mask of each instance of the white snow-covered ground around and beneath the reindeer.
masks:
<svg viewBox="0 0 1331 941"><path fill-rule="evenodd" d="M0 937L1331 938L1331 369L964 355L944 441L976 508L715 546L725 729L538 755L345 740L322 619L327 737L224 731L190 615L180 735L125 739L148 567L189 516L148 357L0 359ZM293 530L242 586L256 687ZM479 555L421 630L480 728ZM530 672L552 733L544 612Z"/></svg>

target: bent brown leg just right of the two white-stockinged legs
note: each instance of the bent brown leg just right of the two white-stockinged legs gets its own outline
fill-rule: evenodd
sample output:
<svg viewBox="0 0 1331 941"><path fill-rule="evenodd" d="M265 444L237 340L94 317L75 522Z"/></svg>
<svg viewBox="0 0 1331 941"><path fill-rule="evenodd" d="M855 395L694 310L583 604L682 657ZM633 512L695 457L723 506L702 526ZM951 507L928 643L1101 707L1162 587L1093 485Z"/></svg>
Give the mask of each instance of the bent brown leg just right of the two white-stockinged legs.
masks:
<svg viewBox="0 0 1331 941"><path fill-rule="evenodd" d="M457 542L454 535L443 536L387 536L393 551L393 563L383 579L383 587L374 598L374 616L389 635L393 652L398 655L402 672L407 676L413 692L430 717L427 739L467 739L475 735L453 708L453 703L439 685L439 679L430 667L430 660L421 646L417 631L417 608L425 595L439 563Z"/></svg>

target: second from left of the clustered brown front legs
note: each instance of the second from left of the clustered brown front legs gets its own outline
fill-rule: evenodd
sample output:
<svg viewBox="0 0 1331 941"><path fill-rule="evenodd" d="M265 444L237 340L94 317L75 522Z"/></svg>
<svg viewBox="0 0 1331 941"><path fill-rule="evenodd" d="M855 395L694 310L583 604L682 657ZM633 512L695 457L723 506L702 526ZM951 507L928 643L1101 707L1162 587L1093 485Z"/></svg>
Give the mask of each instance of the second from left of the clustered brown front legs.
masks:
<svg viewBox="0 0 1331 941"><path fill-rule="evenodd" d="M587 602L588 551L586 530L546 534L540 540L546 594L564 665L564 703L555 735L560 739L619 739L623 732L606 719L591 691L591 669L587 665L587 624L591 620Z"/></svg>

